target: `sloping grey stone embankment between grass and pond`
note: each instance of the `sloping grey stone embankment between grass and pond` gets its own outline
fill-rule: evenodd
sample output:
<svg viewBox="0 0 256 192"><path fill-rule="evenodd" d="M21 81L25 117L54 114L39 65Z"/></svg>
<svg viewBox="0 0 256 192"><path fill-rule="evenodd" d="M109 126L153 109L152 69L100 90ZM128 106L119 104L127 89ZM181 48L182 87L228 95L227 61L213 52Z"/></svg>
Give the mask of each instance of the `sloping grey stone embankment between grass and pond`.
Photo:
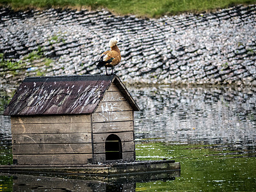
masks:
<svg viewBox="0 0 256 192"><path fill-rule="evenodd" d="M109 49L109 38L119 36L124 43L115 73L122 81L256 86L256 5L159 19L8 8L0 17L0 53L23 63L16 72L0 68L2 84L24 76L104 74L95 61Z"/></svg>

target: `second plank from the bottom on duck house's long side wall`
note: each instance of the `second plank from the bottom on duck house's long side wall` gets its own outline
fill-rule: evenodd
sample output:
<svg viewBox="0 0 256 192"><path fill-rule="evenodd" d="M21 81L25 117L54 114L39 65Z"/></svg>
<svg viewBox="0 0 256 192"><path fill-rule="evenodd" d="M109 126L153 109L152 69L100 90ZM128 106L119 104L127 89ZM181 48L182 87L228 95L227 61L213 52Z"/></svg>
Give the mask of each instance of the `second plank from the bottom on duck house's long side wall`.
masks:
<svg viewBox="0 0 256 192"><path fill-rule="evenodd" d="M92 143L12 145L13 154L92 154Z"/></svg>

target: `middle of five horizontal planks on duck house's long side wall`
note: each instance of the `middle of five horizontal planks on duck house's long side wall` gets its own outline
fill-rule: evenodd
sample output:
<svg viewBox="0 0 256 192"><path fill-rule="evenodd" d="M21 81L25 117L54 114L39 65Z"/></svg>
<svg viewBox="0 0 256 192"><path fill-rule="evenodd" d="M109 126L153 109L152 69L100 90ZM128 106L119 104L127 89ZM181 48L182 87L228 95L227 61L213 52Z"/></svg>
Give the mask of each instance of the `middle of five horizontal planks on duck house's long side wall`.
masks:
<svg viewBox="0 0 256 192"><path fill-rule="evenodd" d="M69 134L13 134L13 144L33 143L92 143L90 133Z"/></svg>

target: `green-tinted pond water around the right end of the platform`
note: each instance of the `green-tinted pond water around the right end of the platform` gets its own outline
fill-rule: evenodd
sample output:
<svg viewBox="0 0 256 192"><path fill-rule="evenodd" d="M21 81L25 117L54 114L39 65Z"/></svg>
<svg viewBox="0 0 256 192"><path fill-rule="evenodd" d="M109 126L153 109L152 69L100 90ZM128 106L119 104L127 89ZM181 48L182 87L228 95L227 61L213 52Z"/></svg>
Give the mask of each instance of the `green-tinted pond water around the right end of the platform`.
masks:
<svg viewBox="0 0 256 192"><path fill-rule="evenodd" d="M172 145L149 142L136 145L138 159L175 159L180 177L137 183L136 191L254 191L255 148L230 149L228 145Z"/></svg>

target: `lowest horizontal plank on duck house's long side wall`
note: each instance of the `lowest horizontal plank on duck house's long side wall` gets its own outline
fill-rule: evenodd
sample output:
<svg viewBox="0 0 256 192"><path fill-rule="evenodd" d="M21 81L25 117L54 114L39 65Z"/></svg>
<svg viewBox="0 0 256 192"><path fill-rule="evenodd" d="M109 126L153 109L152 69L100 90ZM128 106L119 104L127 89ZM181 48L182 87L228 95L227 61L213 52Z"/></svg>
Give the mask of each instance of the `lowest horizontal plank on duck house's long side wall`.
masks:
<svg viewBox="0 0 256 192"><path fill-rule="evenodd" d="M18 164L87 164L92 154L13 155Z"/></svg>

